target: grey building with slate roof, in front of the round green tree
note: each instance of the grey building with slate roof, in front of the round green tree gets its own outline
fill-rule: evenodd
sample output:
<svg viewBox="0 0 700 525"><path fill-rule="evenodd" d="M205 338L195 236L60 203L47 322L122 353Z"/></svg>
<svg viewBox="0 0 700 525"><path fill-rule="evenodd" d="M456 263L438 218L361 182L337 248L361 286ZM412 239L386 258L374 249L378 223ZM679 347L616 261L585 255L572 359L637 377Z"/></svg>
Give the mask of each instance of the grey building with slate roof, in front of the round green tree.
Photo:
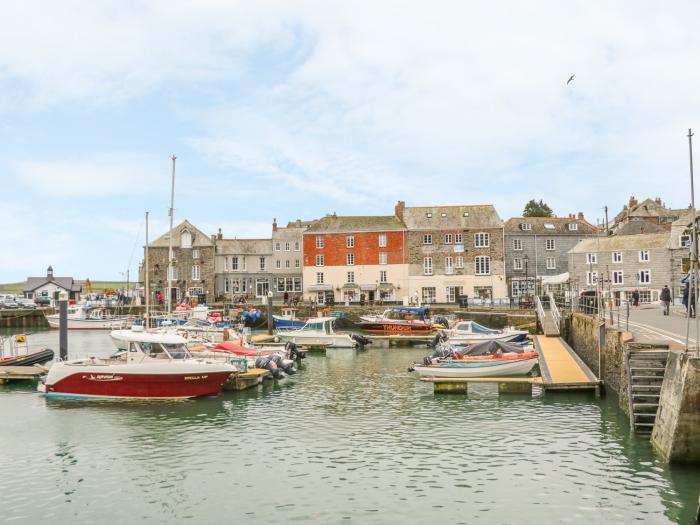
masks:
<svg viewBox="0 0 700 525"><path fill-rule="evenodd" d="M510 297L534 295L542 280L568 281L569 250L600 235L583 213L568 217L512 217L504 226L506 279Z"/></svg>

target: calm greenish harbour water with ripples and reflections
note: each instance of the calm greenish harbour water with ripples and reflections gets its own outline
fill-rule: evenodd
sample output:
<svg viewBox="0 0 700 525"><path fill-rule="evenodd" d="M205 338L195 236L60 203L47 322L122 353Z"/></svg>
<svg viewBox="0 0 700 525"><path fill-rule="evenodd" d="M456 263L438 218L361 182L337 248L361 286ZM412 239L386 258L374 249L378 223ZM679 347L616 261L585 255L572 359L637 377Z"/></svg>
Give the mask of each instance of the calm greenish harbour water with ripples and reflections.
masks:
<svg viewBox="0 0 700 525"><path fill-rule="evenodd" d="M105 334L69 345L112 351ZM0 386L0 521L691 522L700 469L659 461L614 400L434 396L406 372L425 354L329 351L277 385L177 403Z"/></svg>

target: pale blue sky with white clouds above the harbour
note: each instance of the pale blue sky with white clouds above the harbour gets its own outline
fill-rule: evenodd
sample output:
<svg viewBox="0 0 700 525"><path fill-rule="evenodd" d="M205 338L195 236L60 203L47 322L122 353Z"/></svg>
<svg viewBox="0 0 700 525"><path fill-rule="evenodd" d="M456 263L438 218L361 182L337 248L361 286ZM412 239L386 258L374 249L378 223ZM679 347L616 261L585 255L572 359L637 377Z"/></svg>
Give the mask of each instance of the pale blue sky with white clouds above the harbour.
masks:
<svg viewBox="0 0 700 525"><path fill-rule="evenodd" d="M230 238L399 199L507 219L541 198L591 222L631 195L690 201L696 1L2 10L0 282L133 278L145 212L167 231L173 154L176 223Z"/></svg>

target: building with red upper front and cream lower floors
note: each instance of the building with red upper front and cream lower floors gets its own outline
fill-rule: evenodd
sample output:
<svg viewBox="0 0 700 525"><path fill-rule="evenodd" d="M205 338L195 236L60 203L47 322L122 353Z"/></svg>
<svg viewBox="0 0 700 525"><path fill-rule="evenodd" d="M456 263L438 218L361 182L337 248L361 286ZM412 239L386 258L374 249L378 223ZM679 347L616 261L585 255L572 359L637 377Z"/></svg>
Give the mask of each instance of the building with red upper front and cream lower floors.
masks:
<svg viewBox="0 0 700 525"><path fill-rule="evenodd" d="M303 233L304 297L335 301L402 301L407 296L406 226L396 216L315 221Z"/></svg>

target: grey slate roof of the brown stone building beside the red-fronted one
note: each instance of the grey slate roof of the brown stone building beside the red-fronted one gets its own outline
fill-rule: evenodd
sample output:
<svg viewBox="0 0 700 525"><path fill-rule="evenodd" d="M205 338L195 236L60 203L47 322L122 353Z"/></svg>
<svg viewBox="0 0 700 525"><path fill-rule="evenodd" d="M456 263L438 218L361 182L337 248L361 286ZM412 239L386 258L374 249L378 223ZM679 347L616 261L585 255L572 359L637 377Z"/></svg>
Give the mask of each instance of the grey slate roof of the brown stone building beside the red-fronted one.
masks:
<svg viewBox="0 0 700 525"><path fill-rule="evenodd" d="M475 230L502 228L492 204L474 206L409 206L403 220L409 230Z"/></svg>

